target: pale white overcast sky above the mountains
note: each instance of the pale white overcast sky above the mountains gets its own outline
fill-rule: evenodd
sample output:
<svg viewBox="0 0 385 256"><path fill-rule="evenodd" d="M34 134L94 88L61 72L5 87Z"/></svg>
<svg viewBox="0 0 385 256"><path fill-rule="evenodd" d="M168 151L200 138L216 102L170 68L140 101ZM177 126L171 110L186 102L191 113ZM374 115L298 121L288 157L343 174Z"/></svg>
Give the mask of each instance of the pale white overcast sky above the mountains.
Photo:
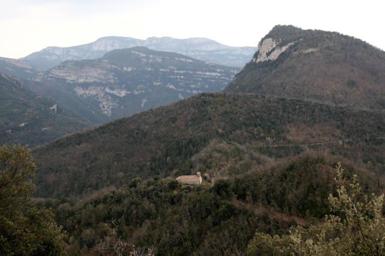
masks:
<svg viewBox="0 0 385 256"><path fill-rule="evenodd" d="M0 0L0 56L103 36L206 37L257 46L275 25L337 31L385 49L385 1Z"/></svg>

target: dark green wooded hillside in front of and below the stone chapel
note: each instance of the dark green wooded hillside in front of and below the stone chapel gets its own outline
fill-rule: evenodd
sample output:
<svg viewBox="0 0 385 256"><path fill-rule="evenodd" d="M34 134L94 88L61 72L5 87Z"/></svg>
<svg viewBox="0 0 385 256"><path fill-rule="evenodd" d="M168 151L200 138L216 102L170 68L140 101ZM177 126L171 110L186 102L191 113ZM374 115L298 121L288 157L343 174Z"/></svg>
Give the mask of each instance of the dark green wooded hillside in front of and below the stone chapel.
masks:
<svg viewBox="0 0 385 256"><path fill-rule="evenodd" d="M127 251L151 247L157 255L239 255L256 231L281 236L293 225L307 227L329 214L337 159L349 162L307 153L214 186L207 180L201 186L181 186L174 179L136 178L82 200L36 202L53 207L57 223L71 237L69 254L98 255L101 241L115 241L114 228L130 245ZM367 170L348 163L344 167L348 179L359 174L362 193L383 191L383 183Z"/></svg>

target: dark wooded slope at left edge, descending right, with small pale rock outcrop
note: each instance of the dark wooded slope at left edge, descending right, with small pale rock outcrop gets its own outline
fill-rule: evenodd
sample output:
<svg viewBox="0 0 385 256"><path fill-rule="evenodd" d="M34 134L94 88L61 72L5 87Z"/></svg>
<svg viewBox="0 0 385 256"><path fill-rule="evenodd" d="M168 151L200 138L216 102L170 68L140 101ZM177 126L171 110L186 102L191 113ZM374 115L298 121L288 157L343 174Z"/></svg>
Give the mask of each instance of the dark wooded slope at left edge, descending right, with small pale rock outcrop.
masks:
<svg viewBox="0 0 385 256"><path fill-rule="evenodd" d="M0 102L0 144L36 146L92 125L79 114L25 89L2 73Z"/></svg>

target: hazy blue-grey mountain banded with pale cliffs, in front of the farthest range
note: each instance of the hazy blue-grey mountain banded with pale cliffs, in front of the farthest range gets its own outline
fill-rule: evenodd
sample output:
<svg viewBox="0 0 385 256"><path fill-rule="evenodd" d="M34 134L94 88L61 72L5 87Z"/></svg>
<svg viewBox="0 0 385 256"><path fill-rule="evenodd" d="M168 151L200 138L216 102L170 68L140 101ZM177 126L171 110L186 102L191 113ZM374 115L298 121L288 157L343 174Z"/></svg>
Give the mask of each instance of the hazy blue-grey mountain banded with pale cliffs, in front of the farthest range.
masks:
<svg viewBox="0 0 385 256"><path fill-rule="evenodd" d="M221 91L238 71L177 53L134 47L113 50L99 59L67 60L36 80L52 90L64 89L108 118L117 118L197 93ZM52 97L50 90L43 95ZM66 104L62 95L66 94L53 97Z"/></svg>

